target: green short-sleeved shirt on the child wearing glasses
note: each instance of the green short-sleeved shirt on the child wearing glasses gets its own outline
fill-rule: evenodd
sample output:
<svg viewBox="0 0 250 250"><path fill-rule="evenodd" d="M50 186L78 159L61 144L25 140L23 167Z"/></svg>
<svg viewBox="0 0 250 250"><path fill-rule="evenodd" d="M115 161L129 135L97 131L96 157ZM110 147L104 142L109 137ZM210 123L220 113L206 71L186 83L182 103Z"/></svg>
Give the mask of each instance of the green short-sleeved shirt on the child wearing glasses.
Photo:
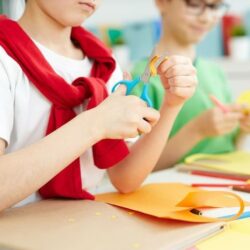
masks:
<svg viewBox="0 0 250 250"><path fill-rule="evenodd" d="M145 69L146 63L146 60L139 62L134 68L133 76L139 76ZM170 137L174 136L190 120L214 106L209 98L210 94L215 95L223 103L232 102L225 75L217 65L203 59L198 59L195 66L199 85L193 97L184 104L177 116ZM138 85L134 90L134 94L139 96L140 89L141 86ZM164 97L164 88L158 76L152 77L150 80L149 96L152 99L154 108L159 109ZM206 138L184 155L180 161L196 153L217 154L234 151L236 135L237 130L224 136ZM188 140L188 138L183 138L183 143L185 143L185 140Z"/></svg>

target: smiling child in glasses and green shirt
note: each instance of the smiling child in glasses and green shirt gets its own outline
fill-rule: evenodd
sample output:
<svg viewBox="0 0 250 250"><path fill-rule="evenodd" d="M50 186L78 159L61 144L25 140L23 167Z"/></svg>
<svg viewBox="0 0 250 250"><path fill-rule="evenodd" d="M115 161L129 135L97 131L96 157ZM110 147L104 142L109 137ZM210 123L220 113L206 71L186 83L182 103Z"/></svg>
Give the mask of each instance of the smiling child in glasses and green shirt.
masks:
<svg viewBox="0 0 250 250"><path fill-rule="evenodd" d="M170 134L170 140L156 169L170 167L195 153L224 153L235 150L241 131L250 132L250 118L242 115L242 107L232 104L224 73L214 63L197 58L195 46L218 23L228 5L222 0L155 0L162 17L162 36L158 53L168 52L192 59L199 85L195 95L185 103ZM139 62L134 75L139 75L146 61ZM181 70L181 67L178 67ZM175 71L172 68L169 71ZM181 70L183 74L184 69ZM179 79L181 80L181 78ZM174 84L174 79L170 82ZM164 98L164 86L158 77L151 79L150 94L159 109ZM139 93L139 92L138 92ZM137 94L137 91L135 91ZM224 112L214 106L214 95L228 106Z"/></svg>

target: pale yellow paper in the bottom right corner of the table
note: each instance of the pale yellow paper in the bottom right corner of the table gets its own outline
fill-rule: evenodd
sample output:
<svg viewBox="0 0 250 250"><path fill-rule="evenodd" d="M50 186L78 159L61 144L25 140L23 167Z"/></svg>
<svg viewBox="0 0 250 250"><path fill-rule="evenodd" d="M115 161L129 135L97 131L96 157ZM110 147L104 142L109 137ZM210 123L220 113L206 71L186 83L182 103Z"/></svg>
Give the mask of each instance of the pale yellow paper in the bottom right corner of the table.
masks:
<svg viewBox="0 0 250 250"><path fill-rule="evenodd" d="M226 229L216 236L197 245L199 250L249 250L250 219L237 220L229 223Z"/></svg>

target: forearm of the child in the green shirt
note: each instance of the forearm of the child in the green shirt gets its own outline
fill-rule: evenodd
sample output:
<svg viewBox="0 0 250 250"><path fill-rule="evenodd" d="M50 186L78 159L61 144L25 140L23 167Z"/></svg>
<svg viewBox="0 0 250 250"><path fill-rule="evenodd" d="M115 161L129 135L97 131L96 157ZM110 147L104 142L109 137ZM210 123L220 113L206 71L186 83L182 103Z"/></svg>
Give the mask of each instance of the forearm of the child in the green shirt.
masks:
<svg viewBox="0 0 250 250"><path fill-rule="evenodd" d="M202 140L202 136L198 133L195 123L195 120L190 121L168 141L155 170L173 166Z"/></svg>

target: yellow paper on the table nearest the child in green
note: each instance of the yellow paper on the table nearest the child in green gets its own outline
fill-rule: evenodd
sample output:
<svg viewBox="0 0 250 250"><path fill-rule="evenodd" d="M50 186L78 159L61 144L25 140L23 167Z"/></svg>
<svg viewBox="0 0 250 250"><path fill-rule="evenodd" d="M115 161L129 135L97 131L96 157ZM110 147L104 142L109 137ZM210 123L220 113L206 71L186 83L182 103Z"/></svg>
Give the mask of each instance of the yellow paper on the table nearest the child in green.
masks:
<svg viewBox="0 0 250 250"><path fill-rule="evenodd" d="M227 154L196 154L185 159L185 163L223 172L250 175L250 153L236 151Z"/></svg>

